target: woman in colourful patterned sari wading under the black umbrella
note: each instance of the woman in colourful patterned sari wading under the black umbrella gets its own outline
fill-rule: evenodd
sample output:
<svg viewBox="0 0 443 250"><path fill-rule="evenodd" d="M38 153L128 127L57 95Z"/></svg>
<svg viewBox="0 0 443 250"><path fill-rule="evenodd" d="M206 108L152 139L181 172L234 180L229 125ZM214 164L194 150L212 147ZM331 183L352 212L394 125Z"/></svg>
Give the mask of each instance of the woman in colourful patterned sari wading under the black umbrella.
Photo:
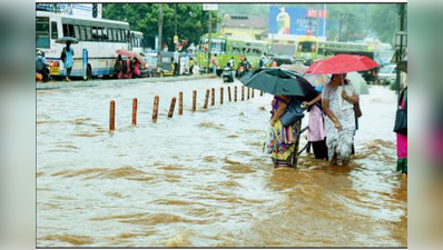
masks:
<svg viewBox="0 0 443 250"><path fill-rule="evenodd" d="M297 122L283 127L279 118L285 112L291 98L287 96L274 96L270 126L273 127L274 138L270 140L270 156L274 168L293 167L297 141Z"/></svg>

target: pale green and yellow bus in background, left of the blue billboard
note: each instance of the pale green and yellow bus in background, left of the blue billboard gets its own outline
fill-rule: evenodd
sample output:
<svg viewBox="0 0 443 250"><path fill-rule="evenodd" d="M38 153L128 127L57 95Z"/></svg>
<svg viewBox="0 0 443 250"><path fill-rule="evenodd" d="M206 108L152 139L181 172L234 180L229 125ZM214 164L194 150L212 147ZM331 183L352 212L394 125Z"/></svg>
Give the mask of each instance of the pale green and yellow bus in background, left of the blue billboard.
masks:
<svg viewBox="0 0 443 250"><path fill-rule="evenodd" d="M226 34L211 34L210 53L217 53L218 64L224 67L234 57L235 66L238 67L242 58L246 57L253 68L259 67L260 57L269 50L268 42L258 40L244 40L242 38ZM208 34L201 37L196 53L197 64L207 68L208 62Z"/></svg>

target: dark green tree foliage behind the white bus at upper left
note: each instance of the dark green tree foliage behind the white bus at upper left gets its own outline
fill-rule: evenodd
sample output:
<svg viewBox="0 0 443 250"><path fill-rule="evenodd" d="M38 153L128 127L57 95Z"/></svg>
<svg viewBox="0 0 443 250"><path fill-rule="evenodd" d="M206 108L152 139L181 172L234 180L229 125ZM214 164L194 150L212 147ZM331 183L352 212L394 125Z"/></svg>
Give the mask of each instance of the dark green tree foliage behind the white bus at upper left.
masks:
<svg viewBox="0 0 443 250"><path fill-rule="evenodd" d="M163 4L164 29L163 41L169 48L174 46L175 3ZM131 30L141 31L147 46L154 48L158 34L158 4L156 3L105 3L104 18L127 21ZM208 11L203 4L177 4L177 36L179 40L198 43L199 38L208 32ZM213 18L213 29L220 19Z"/></svg>

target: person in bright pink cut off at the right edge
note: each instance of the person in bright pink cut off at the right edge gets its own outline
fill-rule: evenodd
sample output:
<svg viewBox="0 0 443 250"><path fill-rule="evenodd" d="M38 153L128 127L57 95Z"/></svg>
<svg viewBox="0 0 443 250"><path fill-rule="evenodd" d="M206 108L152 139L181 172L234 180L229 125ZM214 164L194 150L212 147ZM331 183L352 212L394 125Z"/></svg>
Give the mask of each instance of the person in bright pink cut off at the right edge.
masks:
<svg viewBox="0 0 443 250"><path fill-rule="evenodd" d="M407 83L400 93L400 109L407 113ZM407 133L396 133L397 136L397 171L407 177Z"/></svg>

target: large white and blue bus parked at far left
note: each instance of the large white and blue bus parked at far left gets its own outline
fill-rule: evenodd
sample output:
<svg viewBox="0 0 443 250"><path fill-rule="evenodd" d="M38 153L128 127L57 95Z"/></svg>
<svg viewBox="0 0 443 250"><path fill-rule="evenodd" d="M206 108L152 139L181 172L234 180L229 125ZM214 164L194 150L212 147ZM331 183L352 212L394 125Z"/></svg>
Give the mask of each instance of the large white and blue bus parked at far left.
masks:
<svg viewBox="0 0 443 250"><path fill-rule="evenodd" d="M75 51L71 76L87 80L114 73L116 50L131 49L129 36L128 22L46 11L37 11L36 16L36 47L45 52L51 64L52 77L66 76L60 60L65 44L56 43L58 38L72 37L79 40L79 43L71 44Z"/></svg>

